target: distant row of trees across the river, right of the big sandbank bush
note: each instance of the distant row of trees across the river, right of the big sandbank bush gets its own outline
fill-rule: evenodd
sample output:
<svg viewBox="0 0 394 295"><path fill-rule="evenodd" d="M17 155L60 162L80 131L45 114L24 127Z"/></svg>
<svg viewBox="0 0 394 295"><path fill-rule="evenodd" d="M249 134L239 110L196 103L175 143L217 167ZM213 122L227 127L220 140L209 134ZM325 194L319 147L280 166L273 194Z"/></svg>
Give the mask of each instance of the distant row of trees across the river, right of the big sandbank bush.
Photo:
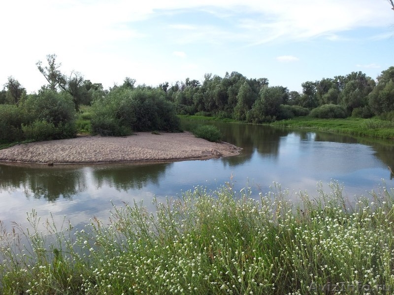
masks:
<svg viewBox="0 0 394 295"><path fill-rule="evenodd" d="M168 89L167 99L178 114L201 114L262 123L306 116L319 118L394 119L394 66L384 70L377 82L362 72L323 78L301 84L302 92L269 86L268 79L248 79L238 72L205 75L204 81L186 79Z"/></svg>

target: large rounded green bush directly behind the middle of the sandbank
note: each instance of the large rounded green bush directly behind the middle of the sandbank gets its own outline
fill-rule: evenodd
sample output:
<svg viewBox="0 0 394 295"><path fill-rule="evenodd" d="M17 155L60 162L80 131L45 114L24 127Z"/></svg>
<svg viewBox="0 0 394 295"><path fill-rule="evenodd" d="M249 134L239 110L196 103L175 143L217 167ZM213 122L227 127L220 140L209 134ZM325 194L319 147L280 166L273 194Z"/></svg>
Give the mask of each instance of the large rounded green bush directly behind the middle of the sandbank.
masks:
<svg viewBox="0 0 394 295"><path fill-rule="evenodd" d="M179 119L161 89L114 88L92 106L92 130L123 136L132 131L178 131Z"/></svg>

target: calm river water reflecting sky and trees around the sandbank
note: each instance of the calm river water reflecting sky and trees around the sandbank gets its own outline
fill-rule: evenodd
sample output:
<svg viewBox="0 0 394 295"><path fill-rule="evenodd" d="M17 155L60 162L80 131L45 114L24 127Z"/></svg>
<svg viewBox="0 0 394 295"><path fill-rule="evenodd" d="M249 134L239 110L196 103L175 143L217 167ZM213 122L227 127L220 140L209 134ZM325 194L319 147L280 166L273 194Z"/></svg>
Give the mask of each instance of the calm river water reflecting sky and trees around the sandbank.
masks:
<svg viewBox="0 0 394 295"><path fill-rule="evenodd" d="M96 216L105 220L112 204L134 201L153 210L159 200L195 186L213 190L232 183L267 193L273 182L289 189L289 198L307 190L316 195L321 182L337 181L344 194L367 196L382 186L394 187L394 143L350 136L260 125L215 123L224 141L243 148L238 156L160 164L98 164L48 167L0 163L0 220L24 224L35 209L55 222L64 216L77 228Z"/></svg>

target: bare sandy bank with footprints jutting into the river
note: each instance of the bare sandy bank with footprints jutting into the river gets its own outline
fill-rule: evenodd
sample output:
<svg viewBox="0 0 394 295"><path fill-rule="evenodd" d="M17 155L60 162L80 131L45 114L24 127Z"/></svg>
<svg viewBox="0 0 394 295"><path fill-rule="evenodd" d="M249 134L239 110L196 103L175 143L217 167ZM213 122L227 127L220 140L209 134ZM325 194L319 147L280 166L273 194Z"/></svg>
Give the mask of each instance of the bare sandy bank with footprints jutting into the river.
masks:
<svg viewBox="0 0 394 295"><path fill-rule="evenodd" d="M81 136L20 144L0 150L0 161L41 164L174 161L237 155L241 148L212 143L189 132L126 137Z"/></svg>

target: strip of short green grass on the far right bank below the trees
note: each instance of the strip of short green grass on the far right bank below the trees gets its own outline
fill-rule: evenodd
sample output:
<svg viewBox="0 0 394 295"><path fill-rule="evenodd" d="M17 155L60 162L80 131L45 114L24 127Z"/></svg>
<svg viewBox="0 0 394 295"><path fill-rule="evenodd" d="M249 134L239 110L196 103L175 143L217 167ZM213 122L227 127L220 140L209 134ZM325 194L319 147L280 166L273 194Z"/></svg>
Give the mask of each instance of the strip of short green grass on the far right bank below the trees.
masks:
<svg viewBox="0 0 394 295"><path fill-rule="evenodd" d="M319 119L298 117L271 123L273 126L310 128L322 131L346 133L354 136L394 139L394 122L378 118Z"/></svg>

